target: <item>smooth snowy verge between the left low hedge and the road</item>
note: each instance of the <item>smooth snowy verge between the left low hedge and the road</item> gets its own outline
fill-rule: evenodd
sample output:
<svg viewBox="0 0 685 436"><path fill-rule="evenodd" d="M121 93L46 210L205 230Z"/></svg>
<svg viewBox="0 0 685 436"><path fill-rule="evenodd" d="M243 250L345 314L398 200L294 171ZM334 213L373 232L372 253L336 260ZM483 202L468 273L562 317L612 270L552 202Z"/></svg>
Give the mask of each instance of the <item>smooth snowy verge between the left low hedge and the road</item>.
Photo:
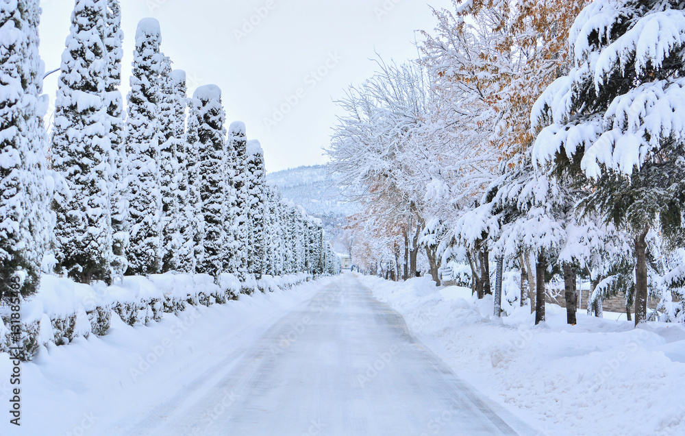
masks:
<svg viewBox="0 0 685 436"><path fill-rule="evenodd" d="M319 291L323 279L286 291L240 295L212 306L188 306L161 322L129 326L112 315L107 335L41 347L21 365L21 428L0 422L0 435L95 435L108 417L134 415L149 404L182 395L184 387L212 389L212 377L266 329ZM0 374L10 374L0 353ZM10 385L0 380L8 404Z"/></svg>

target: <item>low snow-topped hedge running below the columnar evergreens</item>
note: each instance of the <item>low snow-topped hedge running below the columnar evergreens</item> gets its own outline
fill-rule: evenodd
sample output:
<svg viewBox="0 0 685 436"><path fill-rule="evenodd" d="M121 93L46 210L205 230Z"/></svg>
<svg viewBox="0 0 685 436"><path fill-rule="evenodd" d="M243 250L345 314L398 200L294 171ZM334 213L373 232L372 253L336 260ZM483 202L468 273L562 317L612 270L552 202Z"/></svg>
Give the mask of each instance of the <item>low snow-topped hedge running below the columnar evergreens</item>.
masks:
<svg viewBox="0 0 685 436"><path fill-rule="evenodd" d="M300 273L240 282L232 274L222 274L219 286L208 274L167 273L150 278L125 277L123 282L108 287L44 275L38 293L22 304L21 358L32 359L38 347L49 342L64 345L76 337L105 335L112 314L132 326L144 325L160 321L164 313L182 312L188 304L224 304L237 300L246 290L273 292L311 279L311 274ZM0 315L0 352L8 352L12 346L9 313L3 311Z"/></svg>

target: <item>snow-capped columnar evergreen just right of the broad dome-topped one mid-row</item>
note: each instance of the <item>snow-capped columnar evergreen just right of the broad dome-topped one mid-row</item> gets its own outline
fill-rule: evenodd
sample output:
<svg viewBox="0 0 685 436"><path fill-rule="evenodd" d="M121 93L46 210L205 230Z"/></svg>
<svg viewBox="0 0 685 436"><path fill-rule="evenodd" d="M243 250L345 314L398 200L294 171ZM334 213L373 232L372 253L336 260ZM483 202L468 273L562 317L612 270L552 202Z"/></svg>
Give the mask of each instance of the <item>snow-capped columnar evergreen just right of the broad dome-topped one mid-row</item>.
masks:
<svg viewBox="0 0 685 436"><path fill-rule="evenodd" d="M248 221L247 204L247 139L245 138L245 123L236 121L231 123L228 134L227 154L231 162L227 162L227 173L231 178L232 202L227 212L227 223L230 226L228 272L236 274L240 280L247 277L247 243ZM230 220L230 221L228 221Z"/></svg>

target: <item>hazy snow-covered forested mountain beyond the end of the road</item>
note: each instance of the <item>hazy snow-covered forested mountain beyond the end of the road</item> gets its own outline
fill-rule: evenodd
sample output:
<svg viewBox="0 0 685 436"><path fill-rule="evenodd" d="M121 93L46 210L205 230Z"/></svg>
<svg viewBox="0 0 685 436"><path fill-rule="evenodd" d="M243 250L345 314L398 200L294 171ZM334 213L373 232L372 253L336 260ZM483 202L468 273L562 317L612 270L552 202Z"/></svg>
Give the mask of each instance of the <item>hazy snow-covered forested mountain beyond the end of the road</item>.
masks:
<svg viewBox="0 0 685 436"><path fill-rule="evenodd" d="M347 217L360 212L356 202L348 202L341 192L336 175L329 175L325 165L284 169L267 173L266 180L275 183L284 198L301 205L307 213L323 220L331 239L347 223Z"/></svg>

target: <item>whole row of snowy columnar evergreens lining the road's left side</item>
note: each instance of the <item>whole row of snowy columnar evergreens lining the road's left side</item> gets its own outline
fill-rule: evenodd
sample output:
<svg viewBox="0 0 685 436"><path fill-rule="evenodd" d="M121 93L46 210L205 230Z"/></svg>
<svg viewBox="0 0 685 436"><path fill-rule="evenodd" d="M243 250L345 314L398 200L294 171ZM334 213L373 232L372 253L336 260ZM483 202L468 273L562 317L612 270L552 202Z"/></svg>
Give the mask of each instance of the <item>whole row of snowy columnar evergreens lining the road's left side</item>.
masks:
<svg viewBox="0 0 685 436"><path fill-rule="evenodd" d="M221 90L186 97L158 21L138 25L125 119L119 1L75 1L47 141L38 0L0 8L0 67L11 79L0 109L3 283L20 273L22 293L35 291L45 252L56 272L83 283L334 271L321 223L265 183L258 141L243 123L227 132Z"/></svg>

